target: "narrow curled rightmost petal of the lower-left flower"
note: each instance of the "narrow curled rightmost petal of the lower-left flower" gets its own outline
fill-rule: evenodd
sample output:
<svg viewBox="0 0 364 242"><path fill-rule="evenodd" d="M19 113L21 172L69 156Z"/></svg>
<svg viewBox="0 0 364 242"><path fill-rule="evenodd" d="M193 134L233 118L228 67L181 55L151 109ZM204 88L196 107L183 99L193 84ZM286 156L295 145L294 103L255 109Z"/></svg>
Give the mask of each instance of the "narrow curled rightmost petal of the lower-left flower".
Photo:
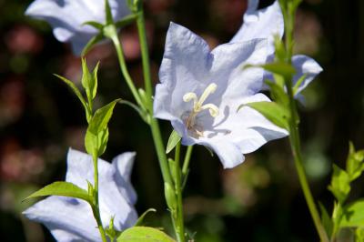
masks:
<svg viewBox="0 0 364 242"><path fill-rule="evenodd" d="M119 192L126 197L126 201L134 205L136 203L136 191L130 183L131 170L134 165L135 152L125 152L116 156L112 164L116 169L114 180Z"/></svg>

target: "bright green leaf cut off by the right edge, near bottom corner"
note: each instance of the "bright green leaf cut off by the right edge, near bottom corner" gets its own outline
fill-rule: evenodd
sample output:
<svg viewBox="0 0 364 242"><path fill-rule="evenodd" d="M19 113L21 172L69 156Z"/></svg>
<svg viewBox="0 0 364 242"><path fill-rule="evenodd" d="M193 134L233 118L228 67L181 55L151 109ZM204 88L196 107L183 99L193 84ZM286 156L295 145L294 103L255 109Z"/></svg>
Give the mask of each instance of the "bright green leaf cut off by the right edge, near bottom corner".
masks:
<svg viewBox="0 0 364 242"><path fill-rule="evenodd" d="M364 227L364 199L343 208L340 227Z"/></svg>

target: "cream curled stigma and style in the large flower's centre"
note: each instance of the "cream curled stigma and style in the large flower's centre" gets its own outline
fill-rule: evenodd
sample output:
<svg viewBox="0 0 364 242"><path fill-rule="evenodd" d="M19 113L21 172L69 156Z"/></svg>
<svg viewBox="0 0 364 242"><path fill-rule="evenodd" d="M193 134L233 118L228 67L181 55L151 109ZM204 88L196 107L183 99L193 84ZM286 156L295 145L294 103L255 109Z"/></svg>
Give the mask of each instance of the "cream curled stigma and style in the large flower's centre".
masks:
<svg viewBox="0 0 364 242"><path fill-rule="evenodd" d="M190 102L193 101L193 108L192 111L189 113L189 116L186 119L186 126L188 130L194 131L197 136L203 136L202 131L197 129L196 126L196 117L197 114L200 113L203 110L208 110L210 116L216 117L218 116L218 107L213 104L205 104L207 97L211 94L215 93L217 89L217 85L215 83L212 83L207 86L205 91L202 93L202 95L198 98L196 93L187 93L183 96L184 102Z"/></svg>

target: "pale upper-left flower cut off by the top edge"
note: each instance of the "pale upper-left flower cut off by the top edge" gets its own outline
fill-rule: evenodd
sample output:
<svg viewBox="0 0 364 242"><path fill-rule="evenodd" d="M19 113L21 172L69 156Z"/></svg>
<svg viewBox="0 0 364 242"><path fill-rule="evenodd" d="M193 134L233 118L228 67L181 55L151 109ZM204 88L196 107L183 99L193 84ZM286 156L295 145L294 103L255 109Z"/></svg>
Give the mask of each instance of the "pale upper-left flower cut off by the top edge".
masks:
<svg viewBox="0 0 364 242"><path fill-rule="evenodd" d="M129 13L126 0L109 0L114 20ZM35 0L25 15L43 19L53 27L53 34L60 42L70 42L74 53L80 55L87 42L98 30L88 21L105 23L105 0Z"/></svg>

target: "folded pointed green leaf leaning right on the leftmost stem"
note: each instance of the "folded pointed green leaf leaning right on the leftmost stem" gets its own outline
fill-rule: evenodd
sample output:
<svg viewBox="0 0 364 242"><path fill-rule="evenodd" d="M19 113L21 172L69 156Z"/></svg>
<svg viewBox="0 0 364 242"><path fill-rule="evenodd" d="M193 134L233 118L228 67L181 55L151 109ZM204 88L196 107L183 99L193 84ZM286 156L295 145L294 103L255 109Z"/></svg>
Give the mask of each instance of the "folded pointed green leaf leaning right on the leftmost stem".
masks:
<svg viewBox="0 0 364 242"><path fill-rule="evenodd" d="M111 116L113 115L114 107L119 100L120 99L116 99L108 105L96 110L95 115L92 117L90 125L88 126L88 130L91 133L97 135L98 133L106 129L107 124L110 121Z"/></svg>

